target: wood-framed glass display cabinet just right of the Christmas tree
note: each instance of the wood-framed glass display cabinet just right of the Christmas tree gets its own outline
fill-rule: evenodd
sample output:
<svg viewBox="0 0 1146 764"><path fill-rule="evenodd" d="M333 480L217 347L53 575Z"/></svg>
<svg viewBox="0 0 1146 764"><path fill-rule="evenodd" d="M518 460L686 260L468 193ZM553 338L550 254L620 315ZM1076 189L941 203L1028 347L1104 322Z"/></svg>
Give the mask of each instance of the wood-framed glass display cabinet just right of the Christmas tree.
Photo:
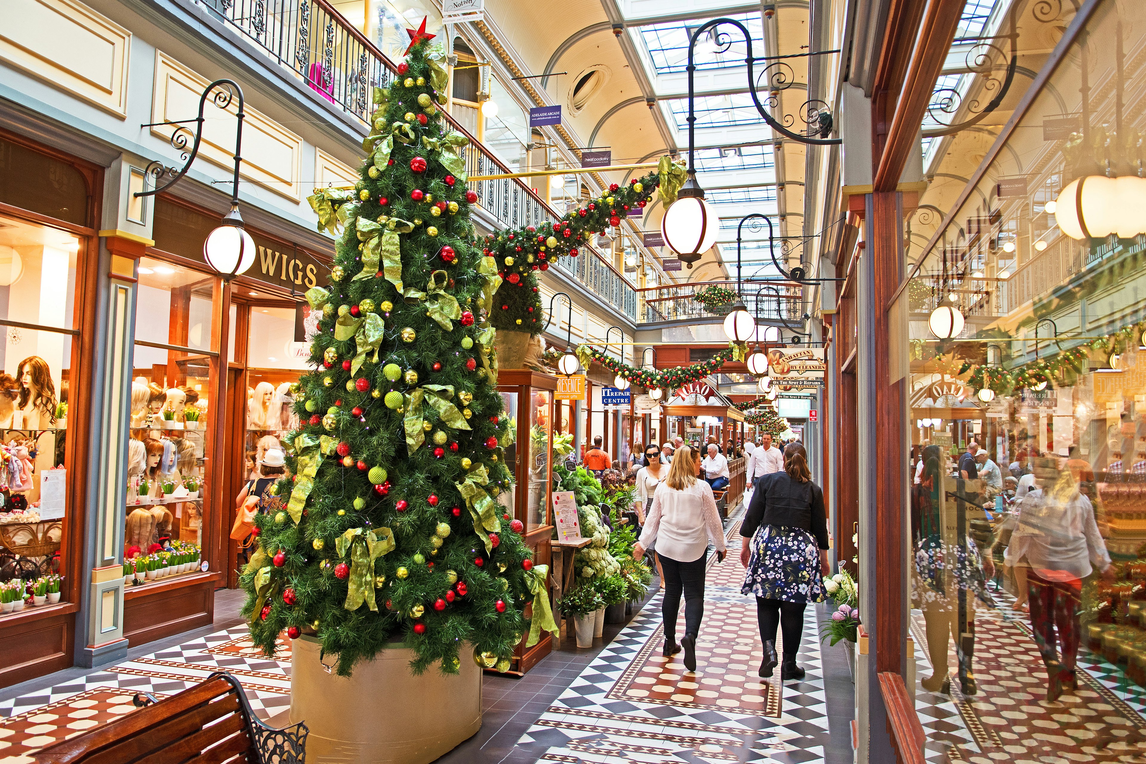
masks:
<svg viewBox="0 0 1146 764"><path fill-rule="evenodd" d="M497 392L505 412L516 427L513 443L505 448L507 466L513 472L515 485L499 495L505 513L525 526L525 543L533 550L536 565L552 569L554 534L552 465L554 394L557 378L527 369L502 369L497 372ZM528 615L528 613L527 613ZM552 649L548 632L541 641L526 649L525 640L513 651L511 674L525 674Z"/></svg>

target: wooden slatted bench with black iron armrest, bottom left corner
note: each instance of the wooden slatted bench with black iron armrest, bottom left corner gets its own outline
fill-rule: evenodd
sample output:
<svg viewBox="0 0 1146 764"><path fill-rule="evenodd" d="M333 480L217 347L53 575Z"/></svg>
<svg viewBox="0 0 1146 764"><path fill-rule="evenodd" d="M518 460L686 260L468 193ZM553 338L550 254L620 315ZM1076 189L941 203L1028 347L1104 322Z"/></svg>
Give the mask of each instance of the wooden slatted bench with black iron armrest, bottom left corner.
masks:
<svg viewBox="0 0 1146 764"><path fill-rule="evenodd" d="M238 679L217 671L157 701L136 693L138 711L34 754L42 764L303 764L306 725L267 726Z"/></svg>

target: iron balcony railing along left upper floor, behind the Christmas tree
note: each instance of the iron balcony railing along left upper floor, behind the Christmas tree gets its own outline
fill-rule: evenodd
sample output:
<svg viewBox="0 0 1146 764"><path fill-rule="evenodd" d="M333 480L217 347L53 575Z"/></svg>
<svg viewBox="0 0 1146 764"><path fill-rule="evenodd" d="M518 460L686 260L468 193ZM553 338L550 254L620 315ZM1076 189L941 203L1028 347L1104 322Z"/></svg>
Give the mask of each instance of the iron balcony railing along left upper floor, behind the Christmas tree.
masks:
<svg viewBox="0 0 1146 764"><path fill-rule="evenodd" d="M199 0L210 13L233 26L272 61L289 69L307 87L345 113L369 126L371 93L397 77L392 61L361 31L351 26L327 0ZM444 117L470 139L465 150L468 175L494 175L510 170L462 124ZM471 181L478 204L505 228L539 226L560 215L519 179ZM591 246L584 257L562 258L558 267L614 308L637 321L636 291Z"/></svg>

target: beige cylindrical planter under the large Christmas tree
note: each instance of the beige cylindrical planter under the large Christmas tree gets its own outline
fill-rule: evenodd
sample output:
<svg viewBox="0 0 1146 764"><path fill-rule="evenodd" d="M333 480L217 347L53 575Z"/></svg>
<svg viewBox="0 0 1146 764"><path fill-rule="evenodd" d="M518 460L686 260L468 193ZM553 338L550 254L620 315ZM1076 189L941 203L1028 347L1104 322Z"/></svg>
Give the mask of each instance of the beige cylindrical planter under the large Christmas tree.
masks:
<svg viewBox="0 0 1146 764"><path fill-rule="evenodd" d="M414 651L395 646L340 677L313 637L291 648L290 723L311 731L306 764L429 764L481 728L481 669L468 649L455 676L416 677Z"/></svg>

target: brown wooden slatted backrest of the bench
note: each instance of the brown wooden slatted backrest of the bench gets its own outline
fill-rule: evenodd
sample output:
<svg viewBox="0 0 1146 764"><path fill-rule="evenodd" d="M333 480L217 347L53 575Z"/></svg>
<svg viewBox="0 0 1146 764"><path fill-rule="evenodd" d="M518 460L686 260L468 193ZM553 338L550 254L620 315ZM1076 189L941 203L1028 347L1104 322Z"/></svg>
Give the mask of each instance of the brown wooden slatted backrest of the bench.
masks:
<svg viewBox="0 0 1146 764"><path fill-rule="evenodd" d="M258 764L238 691L222 677L34 754L42 764Z"/></svg>

